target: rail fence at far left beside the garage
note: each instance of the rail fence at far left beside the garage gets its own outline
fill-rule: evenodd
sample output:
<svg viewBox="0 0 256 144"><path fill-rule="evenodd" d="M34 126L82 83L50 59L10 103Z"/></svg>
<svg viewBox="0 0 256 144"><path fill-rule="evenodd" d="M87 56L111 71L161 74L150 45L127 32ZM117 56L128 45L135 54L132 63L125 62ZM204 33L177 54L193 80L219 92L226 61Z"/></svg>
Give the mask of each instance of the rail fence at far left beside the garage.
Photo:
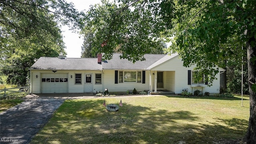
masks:
<svg viewBox="0 0 256 144"><path fill-rule="evenodd" d="M12 95L14 93L20 93L20 92L24 92L29 94L30 87L29 86L24 86L24 87L18 87L18 88L5 88L0 90L0 97L6 97L9 95Z"/></svg>

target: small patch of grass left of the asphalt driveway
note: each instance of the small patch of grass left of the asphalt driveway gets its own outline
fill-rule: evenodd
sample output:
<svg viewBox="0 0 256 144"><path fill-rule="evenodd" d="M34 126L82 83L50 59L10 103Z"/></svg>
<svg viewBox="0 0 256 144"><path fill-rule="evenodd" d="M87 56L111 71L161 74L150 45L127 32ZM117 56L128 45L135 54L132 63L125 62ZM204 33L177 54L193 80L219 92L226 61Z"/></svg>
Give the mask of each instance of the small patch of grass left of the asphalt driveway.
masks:
<svg viewBox="0 0 256 144"><path fill-rule="evenodd" d="M7 100L0 100L0 113L8 110L9 108L20 104L23 100L20 99L7 99Z"/></svg>

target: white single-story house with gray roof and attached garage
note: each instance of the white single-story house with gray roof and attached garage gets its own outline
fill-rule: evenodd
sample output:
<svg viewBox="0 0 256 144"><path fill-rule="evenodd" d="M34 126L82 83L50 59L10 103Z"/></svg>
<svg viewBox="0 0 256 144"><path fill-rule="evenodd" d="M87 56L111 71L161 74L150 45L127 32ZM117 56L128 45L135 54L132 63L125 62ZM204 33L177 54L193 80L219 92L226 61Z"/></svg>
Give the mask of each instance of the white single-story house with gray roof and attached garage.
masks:
<svg viewBox="0 0 256 144"><path fill-rule="evenodd" d="M219 93L220 72L212 86L194 82L193 66L186 68L178 54L145 54L144 61L132 63L113 54L111 60L98 58L40 57L30 68L32 93L138 92L168 90ZM219 68L220 71L224 69Z"/></svg>

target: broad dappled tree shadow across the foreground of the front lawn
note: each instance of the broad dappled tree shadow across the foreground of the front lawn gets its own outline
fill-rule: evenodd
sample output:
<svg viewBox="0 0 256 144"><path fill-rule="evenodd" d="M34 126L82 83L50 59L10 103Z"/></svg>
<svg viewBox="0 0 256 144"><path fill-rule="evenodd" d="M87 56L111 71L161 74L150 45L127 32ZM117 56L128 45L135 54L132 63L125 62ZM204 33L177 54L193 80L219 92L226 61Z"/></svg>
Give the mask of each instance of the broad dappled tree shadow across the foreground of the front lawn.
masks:
<svg viewBox="0 0 256 144"><path fill-rule="evenodd" d="M32 143L223 144L242 138L248 125L236 118L202 122L192 110L172 112L168 106L164 109L152 103L125 104L117 112L108 112L102 103L65 101Z"/></svg>

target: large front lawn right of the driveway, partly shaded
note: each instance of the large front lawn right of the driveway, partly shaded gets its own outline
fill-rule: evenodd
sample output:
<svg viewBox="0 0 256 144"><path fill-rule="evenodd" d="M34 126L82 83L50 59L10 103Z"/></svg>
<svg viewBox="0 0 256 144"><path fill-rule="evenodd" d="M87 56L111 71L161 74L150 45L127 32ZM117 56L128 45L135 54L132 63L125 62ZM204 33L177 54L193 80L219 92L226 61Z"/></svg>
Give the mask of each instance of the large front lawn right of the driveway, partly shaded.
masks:
<svg viewBox="0 0 256 144"><path fill-rule="evenodd" d="M102 103L118 104L108 112ZM216 144L246 133L249 98L181 96L66 100L31 144Z"/></svg>

